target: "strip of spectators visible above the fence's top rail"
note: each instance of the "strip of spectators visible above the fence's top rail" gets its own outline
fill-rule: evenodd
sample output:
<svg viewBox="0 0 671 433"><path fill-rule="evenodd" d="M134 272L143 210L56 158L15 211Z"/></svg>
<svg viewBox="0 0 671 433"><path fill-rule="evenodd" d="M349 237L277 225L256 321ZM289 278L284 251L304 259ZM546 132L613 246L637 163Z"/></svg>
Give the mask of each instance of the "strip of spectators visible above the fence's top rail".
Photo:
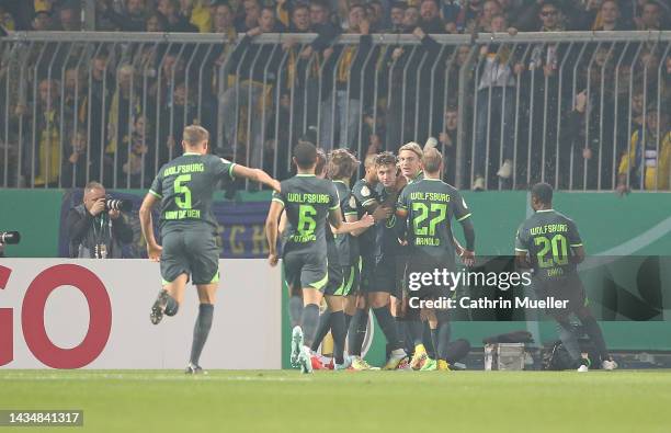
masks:
<svg viewBox="0 0 671 433"><path fill-rule="evenodd" d="M7 30L78 31L87 0L3 0L0 24ZM126 32L247 32L263 8L276 15L276 32L305 32L310 22L350 29L361 7L372 33L473 33L492 30L503 15L519 31L668 30L670 5L662 0L326 0L315 11L308 0L94 0L95 30ZM549 5L548 5L549 3ZM225 5L225 9L219 7ZM298 16L293 16L299 10ZM323 16L319 19L319 13Z"/></svg>

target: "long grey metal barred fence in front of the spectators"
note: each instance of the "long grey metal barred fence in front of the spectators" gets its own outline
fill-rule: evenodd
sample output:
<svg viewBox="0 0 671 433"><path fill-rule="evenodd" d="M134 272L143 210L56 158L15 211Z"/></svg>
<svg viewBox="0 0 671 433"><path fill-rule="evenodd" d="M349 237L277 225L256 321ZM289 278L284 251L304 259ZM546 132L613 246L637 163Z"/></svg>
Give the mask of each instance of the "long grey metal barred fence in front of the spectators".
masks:
<svg viewBox="0 0 671 433"><path fill-rule="evenodd" d="M278 179L299 139L362 159L412 140L462 189L669 189L671 32L315 37L2 38L0 184L147 187L198 123Z"/></svg>

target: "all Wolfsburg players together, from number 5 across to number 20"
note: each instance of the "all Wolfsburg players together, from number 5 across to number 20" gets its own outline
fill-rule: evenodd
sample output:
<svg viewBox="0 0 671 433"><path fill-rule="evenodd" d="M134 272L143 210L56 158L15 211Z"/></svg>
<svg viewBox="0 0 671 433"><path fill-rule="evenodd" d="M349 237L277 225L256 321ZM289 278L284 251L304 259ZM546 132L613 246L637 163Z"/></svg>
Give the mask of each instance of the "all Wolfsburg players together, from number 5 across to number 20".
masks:
<svg viewBox="0 0 671 433"><path fill-rule="evenodd" d="M450 311L411 308L403 284L410 272L455 271L457 255L466 265L475 261L470 212L459 192L442 181L444 166L437 149L409 143L399 149L398 157L388 151L367 156L364 178L350 187L360 162L346 149L326 156L314 144L299 141L293 149L296 174L280 183L262 170L208 155L208 133L201 126L184 129L182 146L184 153L160 169L140 208L140 221L149 258L160 260L163 278L163 288L151 307L151 322L178 312L190 277L197 287L201 304L186 373L203 372L198 362L212 327L218 285L212 196L219 181L234 178L274 190L265 233L272 266L278 263L281 247L284 276L293 295L294 367L311 373L321 366L316 355L330 331L333 369L378 369L362 356L372 309L387 341L383 369L451 369ZM571 311L598 347L602 366L613 369L616 364L577 277L576 264L584 254L576 226L551 209L549 185L535 185L532 197L537 213L518 233L518 260L534 267L538 292L565 293L570 299L570 311L554 317L580 371L587 369L587 362L575 334L568 332ZM151 221L151 208L159 202L161 246ZM452 220L462 225L465 246L453 236ZM543 241L531 235L543 232L537 227L545 225L553 225L555 237L544 239L562 247L561 251L544 249ZM558 229L561 227L567 232ZM562 276L555 277L558 274ZM451 295L448 287L440 286L412 293L420 299ZM320 315L322 301L326 309ZM567 332L562 333L561 327Z"/></svg>

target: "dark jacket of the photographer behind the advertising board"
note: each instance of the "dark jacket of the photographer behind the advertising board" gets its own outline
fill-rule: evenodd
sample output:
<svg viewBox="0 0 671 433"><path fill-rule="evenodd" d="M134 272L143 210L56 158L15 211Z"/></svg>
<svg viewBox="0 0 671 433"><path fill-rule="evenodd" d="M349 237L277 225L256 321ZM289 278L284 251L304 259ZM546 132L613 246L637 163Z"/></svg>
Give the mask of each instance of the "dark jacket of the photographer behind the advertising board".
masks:
<svg viewBox="0 0 671 433"><path fill-rule="evenodd" d="M83 204L70 209L66 224L71 258L94 259L99 243L105 244L107 259L122 258L122 244L133 241L133 229L123 215L116 219L111 219L104 212L100 215L104 216L102 225L101 218L92 216Z"/></svg>

